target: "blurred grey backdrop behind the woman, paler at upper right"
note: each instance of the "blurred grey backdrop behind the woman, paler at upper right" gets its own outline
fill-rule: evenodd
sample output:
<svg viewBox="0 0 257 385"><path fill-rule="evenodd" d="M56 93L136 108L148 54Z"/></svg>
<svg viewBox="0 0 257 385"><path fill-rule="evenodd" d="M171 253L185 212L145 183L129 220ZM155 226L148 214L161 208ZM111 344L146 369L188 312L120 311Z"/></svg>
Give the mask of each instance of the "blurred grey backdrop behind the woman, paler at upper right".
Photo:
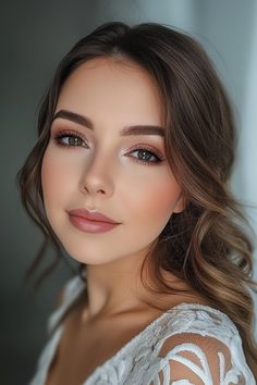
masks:
<svg viewBox="0 0 257 385"><path fill-rule="evenodd" d="M234 194L257 203L257 2L255 0L1 1L0 382L28 383L46 341L46 321L71 275L59 268L33 294L24 273L41 241L23 211L15 174L36 140L38 104L63 54L109 21L159 22L195 36L216 63L236 110ZM257 210L247 209L257 229ZM51 261L49 249L46 265Z"/></svg>

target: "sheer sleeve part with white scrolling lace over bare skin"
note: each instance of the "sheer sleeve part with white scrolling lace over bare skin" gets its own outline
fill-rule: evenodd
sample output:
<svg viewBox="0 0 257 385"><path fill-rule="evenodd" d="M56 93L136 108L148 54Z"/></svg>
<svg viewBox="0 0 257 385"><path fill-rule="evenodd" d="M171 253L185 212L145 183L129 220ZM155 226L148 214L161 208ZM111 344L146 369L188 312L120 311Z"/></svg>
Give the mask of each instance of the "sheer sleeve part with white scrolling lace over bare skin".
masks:
<svg viewBox="0 0 257 385"><path fill-rule="evenodd" d="M255 385L233 363L230 349L215 337L182 333L166 339L150 385Z"/></svg>

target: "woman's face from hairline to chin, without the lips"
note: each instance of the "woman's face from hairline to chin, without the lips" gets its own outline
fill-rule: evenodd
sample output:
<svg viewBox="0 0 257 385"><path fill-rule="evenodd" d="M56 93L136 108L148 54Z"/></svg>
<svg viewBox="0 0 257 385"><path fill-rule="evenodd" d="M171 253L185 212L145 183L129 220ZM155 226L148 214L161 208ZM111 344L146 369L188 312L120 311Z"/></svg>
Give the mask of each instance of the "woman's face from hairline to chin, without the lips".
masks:
<svg viewBox="0 0 257 385"><path fill-rule="evenodd" d="M182 210L161 129L121 133L132 126L161 127L152 79L136 64L90 60L65 82L58 112L41 169L45 209L56 235L86 264L143 256L172 212ZM93 127L74 114L90 120ZM82 231L69 215L78 208L120 224L103 233Z"/></svg>

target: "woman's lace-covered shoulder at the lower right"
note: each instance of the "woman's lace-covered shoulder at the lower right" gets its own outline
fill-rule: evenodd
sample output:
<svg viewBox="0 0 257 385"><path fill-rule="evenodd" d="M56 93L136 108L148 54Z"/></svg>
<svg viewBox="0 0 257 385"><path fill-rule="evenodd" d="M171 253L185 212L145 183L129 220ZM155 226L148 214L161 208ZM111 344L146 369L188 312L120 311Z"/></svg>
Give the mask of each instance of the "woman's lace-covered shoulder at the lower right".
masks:
<svg viewBox="0 0 257 385"><path fill-rule="evenodd" d="M225 314L207 306L182 305L163 321L155 381L163 385L256 384L238 332Z"/></svg>

